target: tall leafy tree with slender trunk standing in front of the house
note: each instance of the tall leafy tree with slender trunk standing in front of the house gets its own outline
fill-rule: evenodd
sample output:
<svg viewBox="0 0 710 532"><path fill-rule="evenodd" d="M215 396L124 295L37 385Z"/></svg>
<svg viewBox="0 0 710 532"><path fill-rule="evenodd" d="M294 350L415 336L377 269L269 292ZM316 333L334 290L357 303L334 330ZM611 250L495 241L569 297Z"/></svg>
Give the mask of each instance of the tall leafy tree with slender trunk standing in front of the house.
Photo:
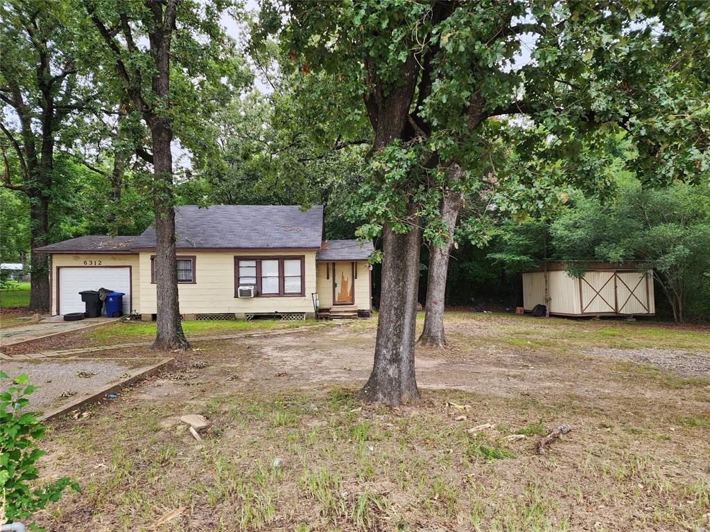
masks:
<svg viewBox="0 0 710 532"><path fill-rule="evenodd" d="M225 8L188 0L84 2L93 26L87 31L103 43L100 60L110 72L104 84L148 128L149 141L138 153L153 165L154 348L187 347L175 260L174 141L179 139L195 157L209 153L212 140L204 122L239 91L235 79L244 81L241 57L219 23Z"/></svg>

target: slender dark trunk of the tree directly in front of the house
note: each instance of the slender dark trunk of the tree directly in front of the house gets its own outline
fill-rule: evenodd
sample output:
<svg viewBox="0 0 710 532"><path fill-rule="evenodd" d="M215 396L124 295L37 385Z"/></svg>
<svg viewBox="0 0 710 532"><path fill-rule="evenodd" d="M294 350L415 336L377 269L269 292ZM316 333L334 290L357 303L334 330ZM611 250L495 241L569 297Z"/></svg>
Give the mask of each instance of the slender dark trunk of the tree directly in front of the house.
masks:
<svg viewBox="0 0 710 532"><path fill-rule="evenodd" d="M151 55L157 71L151 81L153 92L168 104L170 89L170 40L175 23L176 0L170 0L163 13L158 2L151 4L155 28L149 35ZM164 111L163 111L164 112ZM153 211L155 212L155 285L157 289L157 333L154 349L184 352L187 338L180 323L178 300L178 262L175 258L175 195L173 192L173 128L168 116L150 116L153 145Z"/></svg>

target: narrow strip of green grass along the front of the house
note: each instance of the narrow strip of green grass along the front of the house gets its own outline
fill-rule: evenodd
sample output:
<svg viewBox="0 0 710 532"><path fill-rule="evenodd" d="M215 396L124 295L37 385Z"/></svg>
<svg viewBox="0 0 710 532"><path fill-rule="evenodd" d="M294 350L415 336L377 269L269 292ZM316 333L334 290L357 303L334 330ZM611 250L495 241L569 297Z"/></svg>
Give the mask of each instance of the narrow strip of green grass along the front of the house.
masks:
<svg viewBox="0 0 710 532"><path fill-rule="evenodd" d="M183 321L182 330L187 336L212 336L249 331L268 331L270 329L292 329L304 325L312 326L315 320L306 321ZM121 343L147 340L155 336L154 321L119 322L87 331L86 338L99 343L112 343L117 340Z"/></svg>

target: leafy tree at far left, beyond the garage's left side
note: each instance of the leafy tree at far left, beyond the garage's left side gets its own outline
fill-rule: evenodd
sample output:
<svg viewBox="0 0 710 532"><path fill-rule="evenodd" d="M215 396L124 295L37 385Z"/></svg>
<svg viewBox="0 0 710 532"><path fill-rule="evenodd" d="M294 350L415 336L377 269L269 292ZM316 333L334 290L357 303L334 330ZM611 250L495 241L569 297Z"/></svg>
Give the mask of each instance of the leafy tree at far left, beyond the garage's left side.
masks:
<svg viewBox="0 0 710 532"><path fill-rule="evenodd" d="M45 253L35 249L50 243L49 209L61 178L55 150L96 95L81 72L87 57L75 45L74 23L72 11L58 2L0 5L2 185L28 198L29 306L41 313L50 310L49 265Z"/></svg>

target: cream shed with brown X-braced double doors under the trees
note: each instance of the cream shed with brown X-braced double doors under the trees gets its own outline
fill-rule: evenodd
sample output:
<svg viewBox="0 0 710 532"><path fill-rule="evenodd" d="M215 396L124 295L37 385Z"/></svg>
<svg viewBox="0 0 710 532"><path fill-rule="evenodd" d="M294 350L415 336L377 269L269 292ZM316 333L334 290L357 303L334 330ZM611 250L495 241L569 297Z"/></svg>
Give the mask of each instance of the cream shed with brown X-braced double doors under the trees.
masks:
<svg viewBox="0 0 710 532"><path fill-rule="evenodd" d="M568 265L562 262L548 262L537 272L523 273L525 311L547 304L550 314L558 316L655 315L652 270L633 262L586 262L582 266L585 273L579 278L568 275Z"/></svg>

